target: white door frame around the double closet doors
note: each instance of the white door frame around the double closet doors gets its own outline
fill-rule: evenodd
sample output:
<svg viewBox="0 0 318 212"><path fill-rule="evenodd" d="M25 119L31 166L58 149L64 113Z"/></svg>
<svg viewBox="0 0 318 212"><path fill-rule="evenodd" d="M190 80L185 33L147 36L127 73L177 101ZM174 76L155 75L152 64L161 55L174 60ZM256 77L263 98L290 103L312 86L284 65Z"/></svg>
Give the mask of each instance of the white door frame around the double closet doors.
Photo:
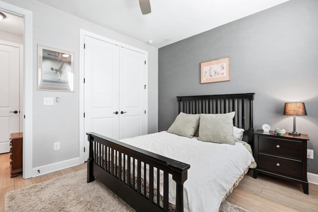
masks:
<svg viewBox="0 0 318 212"><path fill-rule="evenodd" d="M87 160L87 158L86 159L84 158L84 142L87 141L87 137L86 138L84 137L84 37L85 36L89 36L101 41L105 41L107 43L111 43L120 47L124 47L126 49L130 49L130 50L145 54L145 60L146 60L145 79L147 84L145 101L147 102L146 110L147 112L149 111L148 110L148 87L149 87L148 86L148 52L80 28L79 29L79 82L80 82L79 83L79 158L82 162ZM147 118L147 125L148 125L148 118ZM88 151L88 149L86 149L85 151Z"/></svg>

